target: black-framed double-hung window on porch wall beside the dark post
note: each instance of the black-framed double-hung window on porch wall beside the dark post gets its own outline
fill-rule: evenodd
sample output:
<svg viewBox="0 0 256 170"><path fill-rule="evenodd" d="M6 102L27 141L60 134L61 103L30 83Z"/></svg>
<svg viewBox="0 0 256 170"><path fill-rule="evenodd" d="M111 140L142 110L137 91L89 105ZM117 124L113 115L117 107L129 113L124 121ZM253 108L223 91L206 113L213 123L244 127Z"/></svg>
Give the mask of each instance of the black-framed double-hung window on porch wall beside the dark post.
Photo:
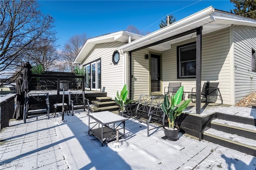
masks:
<svg viewBox="0 0 256 170"><path fill-rule="evenodd" d="M177 47L178 78L196 78L196 44Z"/></svg>

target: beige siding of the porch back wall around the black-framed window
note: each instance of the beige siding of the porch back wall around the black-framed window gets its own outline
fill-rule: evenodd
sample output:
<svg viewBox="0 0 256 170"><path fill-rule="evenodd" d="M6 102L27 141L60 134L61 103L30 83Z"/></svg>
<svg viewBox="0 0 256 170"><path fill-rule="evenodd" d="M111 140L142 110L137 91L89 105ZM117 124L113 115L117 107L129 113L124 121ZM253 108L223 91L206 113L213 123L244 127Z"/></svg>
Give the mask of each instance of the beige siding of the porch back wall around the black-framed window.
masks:
<svg viewBox="0 0 256 170"><path fill-rule="evenodd" d="M188 41L172 44L172 49L162 53L162 84L182 82L185 92L196 87L195 78L177 79L177 46L195 42ZM219 88L224 104L230 104L230 61L229 29L222 29L202 36L202 85L204 82L220 82ZM187 97L187 96L186 96Z"/></svg>

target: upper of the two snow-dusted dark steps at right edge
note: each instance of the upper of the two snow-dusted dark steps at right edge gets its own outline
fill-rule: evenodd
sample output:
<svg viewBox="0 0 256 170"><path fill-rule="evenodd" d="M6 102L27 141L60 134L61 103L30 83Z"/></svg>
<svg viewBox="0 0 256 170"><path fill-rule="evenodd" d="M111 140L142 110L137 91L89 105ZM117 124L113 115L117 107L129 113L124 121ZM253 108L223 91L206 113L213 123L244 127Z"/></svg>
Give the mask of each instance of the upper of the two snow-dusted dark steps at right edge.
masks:
<svg viewBox="0 0 256 170"><path fill-rule="evenodd" d="M254 125L214 119L211 121L211 128L256 140L256 127Z"/></svg>

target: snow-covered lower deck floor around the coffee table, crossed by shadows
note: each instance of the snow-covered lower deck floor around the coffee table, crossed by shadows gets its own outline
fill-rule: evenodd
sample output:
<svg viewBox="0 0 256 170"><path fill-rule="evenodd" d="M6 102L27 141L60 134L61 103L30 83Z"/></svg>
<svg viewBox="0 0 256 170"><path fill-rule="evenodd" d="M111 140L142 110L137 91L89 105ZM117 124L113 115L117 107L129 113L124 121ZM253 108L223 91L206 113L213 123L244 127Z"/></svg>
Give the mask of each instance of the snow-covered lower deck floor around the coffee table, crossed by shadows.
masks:
<svg viewBox="0 0 256 170"><path fill-rule="evenodd" d="M245 110L242 107L239 114L255 116ZM251 155L181 133L178 141L165 140L161 128L147 137L146 124L133 119L126 121L126 139L101 147L96 137L88 135L86 113L76 110L74 116L65 114L64 123L58 113L49 120L44 115L30 117L26 124L11 121L1 132L1 169L256 168L256 158Z"/></svg>

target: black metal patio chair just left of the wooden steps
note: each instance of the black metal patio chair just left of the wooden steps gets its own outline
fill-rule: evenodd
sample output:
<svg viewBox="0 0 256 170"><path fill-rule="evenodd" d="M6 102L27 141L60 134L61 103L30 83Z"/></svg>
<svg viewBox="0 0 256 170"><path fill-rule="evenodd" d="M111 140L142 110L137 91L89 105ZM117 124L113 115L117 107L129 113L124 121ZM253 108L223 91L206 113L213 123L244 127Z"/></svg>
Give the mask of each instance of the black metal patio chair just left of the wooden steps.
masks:
<svg viewBox="0 0 256 170"><path fill-rule="evenodd" d="M72 116L74 115L74 109L88 109L90 111L89 100L85 98L83 91L69 92L68 93L69 112L72 110Z"/></svg>

